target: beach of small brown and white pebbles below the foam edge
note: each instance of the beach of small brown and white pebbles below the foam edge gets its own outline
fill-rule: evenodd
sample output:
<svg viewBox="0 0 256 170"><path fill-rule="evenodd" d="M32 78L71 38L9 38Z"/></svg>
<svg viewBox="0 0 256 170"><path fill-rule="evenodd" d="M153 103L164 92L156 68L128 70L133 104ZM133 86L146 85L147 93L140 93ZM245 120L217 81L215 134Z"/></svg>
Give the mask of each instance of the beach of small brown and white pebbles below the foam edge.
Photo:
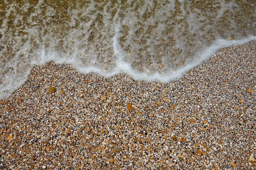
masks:
<svg viewBox="0 0 256 170"><path fill-rule="evenodd" d="M256 168L256 42L163 84L50 62L0 100L0 169Z"/></svg>

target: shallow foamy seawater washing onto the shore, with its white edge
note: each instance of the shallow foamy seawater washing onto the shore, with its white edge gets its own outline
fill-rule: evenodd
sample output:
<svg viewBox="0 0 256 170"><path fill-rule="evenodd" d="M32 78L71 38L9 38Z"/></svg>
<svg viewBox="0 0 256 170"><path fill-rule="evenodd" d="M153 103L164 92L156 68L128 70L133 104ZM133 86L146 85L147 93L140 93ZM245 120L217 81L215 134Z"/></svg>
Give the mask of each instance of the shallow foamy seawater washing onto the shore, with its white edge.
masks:
<svg viewBox="0 0 256 170"><path fill-rule="evenodd" d="M169 82L255 34L255 0L1 0L0 98L50 61Z"/></svg>

